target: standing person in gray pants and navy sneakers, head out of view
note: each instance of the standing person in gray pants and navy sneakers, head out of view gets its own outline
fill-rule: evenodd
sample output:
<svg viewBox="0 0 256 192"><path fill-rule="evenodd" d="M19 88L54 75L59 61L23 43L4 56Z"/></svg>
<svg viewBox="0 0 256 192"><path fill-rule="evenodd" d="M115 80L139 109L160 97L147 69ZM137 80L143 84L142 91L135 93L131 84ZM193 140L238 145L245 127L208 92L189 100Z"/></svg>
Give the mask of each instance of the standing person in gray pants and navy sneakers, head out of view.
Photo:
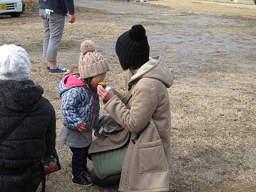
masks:
<svg viewBox="0 0 256 192"><path fill-rule="evenodd" d="M44 28L43 57L47 60L49 73L69 73L68 69L62 68L56 61L67 12L69 23L74 23L76 18L73 0L39 1L39 15Z"/></svg>

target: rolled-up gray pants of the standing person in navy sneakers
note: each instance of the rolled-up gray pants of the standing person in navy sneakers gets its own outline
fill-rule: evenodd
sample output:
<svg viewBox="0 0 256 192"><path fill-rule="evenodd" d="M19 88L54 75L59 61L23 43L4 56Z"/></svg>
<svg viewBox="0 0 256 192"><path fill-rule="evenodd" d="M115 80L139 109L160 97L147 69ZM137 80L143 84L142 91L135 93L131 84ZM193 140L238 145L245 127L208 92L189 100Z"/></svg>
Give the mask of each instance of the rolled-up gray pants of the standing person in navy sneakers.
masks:
<svg viewBox="0 0 256 192"><path fill-rule="evenodd" d="M43 57L47 61L56 61L65 26L65 16L57 11L48 15L43 9L39 10L39 15L44 27Z"/></svg>

